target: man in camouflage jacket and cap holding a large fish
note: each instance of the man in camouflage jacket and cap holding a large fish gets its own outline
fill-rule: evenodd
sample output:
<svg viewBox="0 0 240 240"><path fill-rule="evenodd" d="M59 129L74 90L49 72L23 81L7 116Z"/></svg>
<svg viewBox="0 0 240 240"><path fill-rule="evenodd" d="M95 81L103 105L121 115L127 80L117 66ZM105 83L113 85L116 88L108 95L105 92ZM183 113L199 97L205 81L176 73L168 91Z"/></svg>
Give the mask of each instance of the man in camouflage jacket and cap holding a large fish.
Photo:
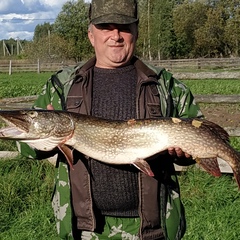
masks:
<svg viewBox="0 0 240 240"><path fill-rule="evenodd" d="M95 57L52 76L35 108L117 120L202 115L185 85L134 56L135 0L93 0L88 37ZM38 159L55 154L23 144L21 152ZM153 156L153 178L130 165L73 153L74 170L58 153L53 208L61 239L182 238L185 216L173 162L189 162L189 155L171 148Z"/></svg>

